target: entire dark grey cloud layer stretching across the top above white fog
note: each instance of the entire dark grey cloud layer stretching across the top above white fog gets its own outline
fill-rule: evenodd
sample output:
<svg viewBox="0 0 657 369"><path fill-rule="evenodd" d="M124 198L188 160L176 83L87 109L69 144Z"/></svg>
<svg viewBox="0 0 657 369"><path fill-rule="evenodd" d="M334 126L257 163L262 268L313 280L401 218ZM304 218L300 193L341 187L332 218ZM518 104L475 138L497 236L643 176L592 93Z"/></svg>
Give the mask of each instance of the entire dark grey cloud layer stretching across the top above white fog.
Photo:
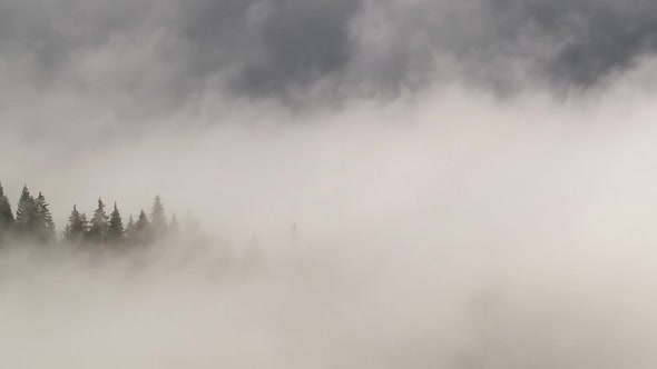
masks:
<svg viewBox="0 0 657 369"><path fill-rule="evenodd" d="M0 62L38 86L151 104L441 78L588 87L653 53L655 24L644 0L0 0Z"/></svg>

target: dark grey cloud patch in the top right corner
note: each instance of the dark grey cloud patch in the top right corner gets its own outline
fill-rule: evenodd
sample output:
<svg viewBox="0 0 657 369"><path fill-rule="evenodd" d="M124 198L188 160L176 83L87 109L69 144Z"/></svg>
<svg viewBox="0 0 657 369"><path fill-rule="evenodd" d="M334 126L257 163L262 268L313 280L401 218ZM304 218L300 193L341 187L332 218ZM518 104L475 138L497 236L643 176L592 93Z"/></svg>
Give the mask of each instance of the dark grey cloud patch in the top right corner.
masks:
<svg viewBox="0 0 657 369"><path fill-rule="evenodd" d="M496 0L493 17L561 37L546 72L560 80L591 84L624 70L657 47L657 3L646 0Z"/></svg>

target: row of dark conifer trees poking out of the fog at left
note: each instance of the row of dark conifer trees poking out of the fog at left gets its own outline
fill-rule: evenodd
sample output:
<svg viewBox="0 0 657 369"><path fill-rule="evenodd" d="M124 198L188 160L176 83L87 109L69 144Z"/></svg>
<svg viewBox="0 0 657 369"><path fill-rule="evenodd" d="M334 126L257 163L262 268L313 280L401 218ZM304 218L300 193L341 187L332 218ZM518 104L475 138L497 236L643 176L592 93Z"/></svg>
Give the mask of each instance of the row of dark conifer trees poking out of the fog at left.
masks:
<svg viewBox="0 0 657 369"><path fill-rule="evenodd" d="M90 217L73 206L66 227L59 232L49 207L43 193L33 196L24 186L14 215L0 183L0 245L18 240L38 245L147 246L164 238L177 238L179 232L176 215L167 220L159 196L155 197L149 215L141 210L136 220L129 216L127 223L116 202L107 209L102 199L98 199Z"/></svg>

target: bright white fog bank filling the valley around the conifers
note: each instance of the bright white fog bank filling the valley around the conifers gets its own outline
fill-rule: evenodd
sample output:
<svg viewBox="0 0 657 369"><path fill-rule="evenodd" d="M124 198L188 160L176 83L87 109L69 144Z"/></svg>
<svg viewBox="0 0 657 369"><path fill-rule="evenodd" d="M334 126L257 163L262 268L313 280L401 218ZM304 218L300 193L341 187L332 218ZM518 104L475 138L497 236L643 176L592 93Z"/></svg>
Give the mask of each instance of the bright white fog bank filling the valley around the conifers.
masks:
<svg viewBox="0 0 657 369"><path fill-rule="evenodd" d="M73 202L135 213L158 192L212 241L7 247L0 366L654 368L640 76L572 98L454 87L297 114L215 97L170 118L187 126L66 166L2 161L12 201L23 181L50 193L58 228Z"/></svg>

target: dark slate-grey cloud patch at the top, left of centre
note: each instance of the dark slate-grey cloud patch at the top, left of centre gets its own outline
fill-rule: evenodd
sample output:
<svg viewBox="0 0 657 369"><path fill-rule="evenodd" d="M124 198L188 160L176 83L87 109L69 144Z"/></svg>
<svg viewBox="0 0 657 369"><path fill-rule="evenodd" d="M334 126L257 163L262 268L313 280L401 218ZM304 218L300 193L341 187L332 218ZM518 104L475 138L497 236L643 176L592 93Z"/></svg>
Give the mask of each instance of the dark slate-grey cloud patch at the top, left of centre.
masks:
<svg viewBox="0 0 657 369"><path fill-rule="evenodd" d="M245 93L285 91L344 70L349 24L357 0L197 1L183 20L195 72L235 63L233 87Z"/></svg>

